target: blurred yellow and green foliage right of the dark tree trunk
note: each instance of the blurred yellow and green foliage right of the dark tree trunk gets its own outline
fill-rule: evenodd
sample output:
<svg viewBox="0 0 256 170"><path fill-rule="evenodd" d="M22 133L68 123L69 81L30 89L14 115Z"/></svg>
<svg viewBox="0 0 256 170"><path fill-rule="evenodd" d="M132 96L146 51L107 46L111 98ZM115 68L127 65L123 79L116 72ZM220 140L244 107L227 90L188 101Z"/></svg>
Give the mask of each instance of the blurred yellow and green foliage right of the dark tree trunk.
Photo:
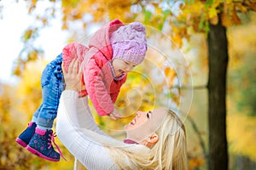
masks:
<svg viewBox="0 0 256 170"><path fill-rule="evenodd" d="M243 16L247 24L230 27L228 77L228 139L230 153L256 161L256 14Z"/></svg>

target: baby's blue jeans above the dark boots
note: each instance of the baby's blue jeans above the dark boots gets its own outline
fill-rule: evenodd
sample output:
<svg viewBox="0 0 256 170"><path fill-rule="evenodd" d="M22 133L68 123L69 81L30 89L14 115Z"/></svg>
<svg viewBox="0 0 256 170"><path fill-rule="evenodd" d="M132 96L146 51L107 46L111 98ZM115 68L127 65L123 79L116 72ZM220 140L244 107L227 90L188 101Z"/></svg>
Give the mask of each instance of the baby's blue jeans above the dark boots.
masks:
<svg viewBox="0 0 256 170"><path fill-rule="evenodd" d="M43 101L38 110L33 115L33 120L37 120L37 125L51 128L55 117L61 92L65 88L64 78L61 71L62 54L59 54L46 67L41 76L41 87Z"/></svg>

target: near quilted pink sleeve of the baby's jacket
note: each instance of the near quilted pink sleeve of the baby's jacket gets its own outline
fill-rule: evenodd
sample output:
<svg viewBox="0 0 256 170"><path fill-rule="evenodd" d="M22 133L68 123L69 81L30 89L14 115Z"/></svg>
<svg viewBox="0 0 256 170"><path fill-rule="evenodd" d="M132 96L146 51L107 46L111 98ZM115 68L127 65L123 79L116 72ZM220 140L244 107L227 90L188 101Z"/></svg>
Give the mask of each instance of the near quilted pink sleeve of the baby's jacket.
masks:
<svg viewBox="0 0 256 170"><path fill-rule="evenodd" d="M104 83L104 75L101 68L96 64L95 59L90 59L85 66L84 82L97 114L99 116L107 116L113 111L113 101Z"/></svg>

